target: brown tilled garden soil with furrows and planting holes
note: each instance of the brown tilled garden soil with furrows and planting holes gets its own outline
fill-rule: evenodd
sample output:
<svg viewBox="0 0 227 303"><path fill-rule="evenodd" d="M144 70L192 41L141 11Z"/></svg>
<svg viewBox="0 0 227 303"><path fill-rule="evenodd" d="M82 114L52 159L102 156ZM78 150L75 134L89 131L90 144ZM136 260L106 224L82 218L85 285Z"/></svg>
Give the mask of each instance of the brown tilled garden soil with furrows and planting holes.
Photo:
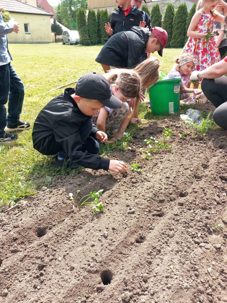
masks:
<svg viewBox="0 0 227 303"><path fill-rule="evenodd" d="M142 159L143 140L161 139L162 126L174 132L172 152ZM227 302L226 136L193 138L178 116L148 122L130 149L110 155L128 164L126 177L62 176L2 212L0 302ZM99 189L103 213L72 208L70 192Z"/></svg>

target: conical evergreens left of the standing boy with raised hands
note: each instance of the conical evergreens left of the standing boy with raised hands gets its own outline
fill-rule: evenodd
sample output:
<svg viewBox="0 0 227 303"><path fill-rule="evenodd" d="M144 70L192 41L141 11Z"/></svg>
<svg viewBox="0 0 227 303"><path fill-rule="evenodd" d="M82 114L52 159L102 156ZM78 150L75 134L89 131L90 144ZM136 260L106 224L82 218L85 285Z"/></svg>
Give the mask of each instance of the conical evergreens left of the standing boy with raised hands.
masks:
<svg viewBox="0 0 227 303"><path fill-rule="evenodd" d="M77 13L77 26L80 35L80 44L82 45L96 45L101 43L101 39L106 39L107 34L105 30L105 23L110 21L110 15L105 10L95 11L90 9L87 15L85 10L80 8Z"/></svg>

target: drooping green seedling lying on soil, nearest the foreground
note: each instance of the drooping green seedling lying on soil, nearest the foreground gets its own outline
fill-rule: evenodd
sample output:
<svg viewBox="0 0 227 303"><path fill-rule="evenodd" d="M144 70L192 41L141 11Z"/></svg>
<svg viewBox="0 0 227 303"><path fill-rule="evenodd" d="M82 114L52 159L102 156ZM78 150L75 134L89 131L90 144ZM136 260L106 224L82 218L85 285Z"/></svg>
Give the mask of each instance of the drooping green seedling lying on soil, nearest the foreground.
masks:
<svg viewBox="0 0 227 303"><path fill-rule="evenodd" d="M69 197L70 199L73 201L73 205L75 207L75 201L76 201L76 198L77 198L77 195L80 191L77 190L77 194L75 197L73 197L73 194L70 192L69 193ZM99 191L91 191L89 195L85 195L84 197L82 197L80 199L80 201L77 203L78 207L81 208L81 207L85 207L85 206L93 206L92 207L92 211L103 211L104 210L104 206L102 204L102 202L99 202L99 197L100 195L103 193L103 189L100 189ZM87 198L88 197L88 198ZM93 201L88 201L89 199L92 199Z"/></svg>

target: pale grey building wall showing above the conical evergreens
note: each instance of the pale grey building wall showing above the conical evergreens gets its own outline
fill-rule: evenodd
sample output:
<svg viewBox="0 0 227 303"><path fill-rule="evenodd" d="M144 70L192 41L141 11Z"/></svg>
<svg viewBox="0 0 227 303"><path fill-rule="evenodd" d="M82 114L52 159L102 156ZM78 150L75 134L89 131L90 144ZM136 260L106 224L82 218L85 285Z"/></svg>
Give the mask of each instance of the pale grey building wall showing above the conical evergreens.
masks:
<svg viewBox="0 0 227 303"><path fill-rule="evenodd" d="M172 3L174 8L175 8L175 11L176 11L179 4L183 4L184 2L186 3L187 9L188 9L188 12L189 12L192 5L194 4L194 2L185 1L185 0L158 0L158 1L152 1L152 2L147 1L147 6L148 6L149 10L151 11L153 5L158 4L159 7L160 7L161 14L162 14L162 19L163 19L168 3ZM144 2L143 2L143 4L144 4ZM108 13L112 13L114 7L116 7L116 5L115 6L108 6L108 7L100 7L99 9L101 10L101 9L106 9L107 8ZM93 8L93 9L97 13L98 8Z"/></svg>

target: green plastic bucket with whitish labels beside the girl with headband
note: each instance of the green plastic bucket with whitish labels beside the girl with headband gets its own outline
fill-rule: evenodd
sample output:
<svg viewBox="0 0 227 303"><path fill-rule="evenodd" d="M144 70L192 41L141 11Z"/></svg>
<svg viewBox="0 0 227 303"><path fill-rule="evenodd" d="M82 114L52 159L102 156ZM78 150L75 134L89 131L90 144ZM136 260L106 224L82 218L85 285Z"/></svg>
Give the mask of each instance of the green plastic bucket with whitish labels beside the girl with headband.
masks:
<svg viewBox="0 0 227 303"><path fill-rule="evenodd" d="M150 87L150 108L155 115L179 111L180 81L181 79L161 80Z"/></svg>

